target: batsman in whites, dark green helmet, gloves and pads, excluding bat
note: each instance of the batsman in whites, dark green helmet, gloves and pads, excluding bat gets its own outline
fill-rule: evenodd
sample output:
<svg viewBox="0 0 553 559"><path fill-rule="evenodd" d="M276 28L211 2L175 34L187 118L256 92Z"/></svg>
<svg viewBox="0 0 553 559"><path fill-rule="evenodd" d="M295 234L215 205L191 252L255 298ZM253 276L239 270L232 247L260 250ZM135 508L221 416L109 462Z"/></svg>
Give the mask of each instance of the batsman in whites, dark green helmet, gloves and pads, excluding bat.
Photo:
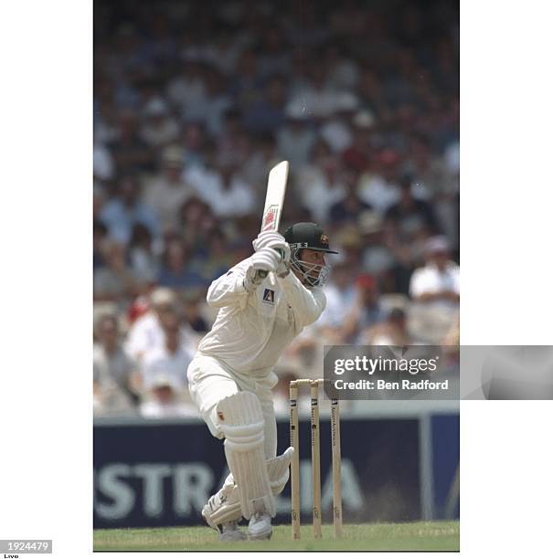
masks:
<svg viewBox="0 0 553 559"><path fill-rule="evenodd" d="M255 252L213 281L207 303L218 309L211 332L188 366L190 395L214 437L224 438L230 474L202 510L221 541L271 538L274 495L289 477L293 448L276 456L272 367L284 348L315 322L326 299L329 272L323 228L297 223L284 236L264 231Z"/></svg>

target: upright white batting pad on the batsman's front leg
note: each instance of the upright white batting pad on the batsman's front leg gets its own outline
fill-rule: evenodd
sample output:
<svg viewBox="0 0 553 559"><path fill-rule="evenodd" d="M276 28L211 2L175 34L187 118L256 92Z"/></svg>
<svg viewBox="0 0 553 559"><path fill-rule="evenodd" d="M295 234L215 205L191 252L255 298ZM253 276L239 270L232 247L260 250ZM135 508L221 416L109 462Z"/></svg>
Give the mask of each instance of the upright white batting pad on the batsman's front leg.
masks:
<svg viewBox="0 0 553 559"><path fill-rule="evenodd" d="M217 406L220 428L225 436L225 455L230 473L238 486L242 516L254 512L276 515L271 482L264 455L264 419L257 396L239 392Z"/></svg>

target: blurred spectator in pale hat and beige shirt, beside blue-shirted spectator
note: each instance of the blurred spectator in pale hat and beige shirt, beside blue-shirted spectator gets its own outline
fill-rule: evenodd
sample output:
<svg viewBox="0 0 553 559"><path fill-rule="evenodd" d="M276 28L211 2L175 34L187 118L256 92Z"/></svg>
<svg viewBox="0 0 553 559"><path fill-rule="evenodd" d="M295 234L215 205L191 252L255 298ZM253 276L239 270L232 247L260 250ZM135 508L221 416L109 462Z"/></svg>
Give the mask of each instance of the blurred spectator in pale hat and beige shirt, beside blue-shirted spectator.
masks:
<svg viewBox="0 0 553 559"><path fill-rule="evenodd" d="M178 230L179 208L195 194L182 176L184 160L185 152L180 146L165 147L161 168L144 193L145 203L154 210L165 232Z"/></svg>

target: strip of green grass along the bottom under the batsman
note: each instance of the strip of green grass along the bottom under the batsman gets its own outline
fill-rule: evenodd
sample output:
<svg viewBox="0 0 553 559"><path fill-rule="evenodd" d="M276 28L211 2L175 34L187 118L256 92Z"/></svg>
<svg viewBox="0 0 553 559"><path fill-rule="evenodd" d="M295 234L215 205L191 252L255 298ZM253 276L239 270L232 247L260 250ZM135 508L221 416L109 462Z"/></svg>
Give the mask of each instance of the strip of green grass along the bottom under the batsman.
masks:
<svg viewBox="0 0 553 559"><path fill-rule="evenodd" d="M311 526L292 541L288 525L275 526L268 542L218 541L204 526L186 528L127 528L95 530L94 551L458 551L459 522L348 524L344 537L334 540L332 525L323 526L323 539L314 541Z"/></svg>

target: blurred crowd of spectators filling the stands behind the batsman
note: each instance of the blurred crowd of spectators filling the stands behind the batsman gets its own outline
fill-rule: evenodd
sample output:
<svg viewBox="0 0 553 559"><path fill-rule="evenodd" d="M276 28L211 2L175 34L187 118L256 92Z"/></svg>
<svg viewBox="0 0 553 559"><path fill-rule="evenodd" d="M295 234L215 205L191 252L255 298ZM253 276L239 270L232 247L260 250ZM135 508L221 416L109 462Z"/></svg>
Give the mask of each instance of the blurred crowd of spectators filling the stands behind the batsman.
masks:
<svg viewBox="0 0 553 559"><path fill-rule="evenodd" d="M458 19L433 0L94 3L95 413L197 416L207 287L250 256L283 159L282 230L321 223L340 254L277 410L323 343L458 343Z"/></svg>

